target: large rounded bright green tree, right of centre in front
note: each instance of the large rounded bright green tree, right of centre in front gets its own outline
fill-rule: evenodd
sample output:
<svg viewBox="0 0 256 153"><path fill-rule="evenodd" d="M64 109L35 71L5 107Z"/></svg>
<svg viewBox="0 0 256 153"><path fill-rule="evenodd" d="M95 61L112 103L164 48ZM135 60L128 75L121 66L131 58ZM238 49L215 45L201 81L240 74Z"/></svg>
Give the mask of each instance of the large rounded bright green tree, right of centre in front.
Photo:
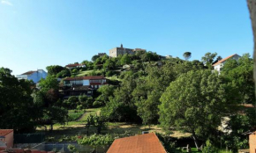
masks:
<svg viewBox="0 0 256 153"><path fill-rule="evenodd" d="M225 94L221 77L210 70L192 70L179 76L160 98L162 127L191 133L198 148L198 139L206 141L221 125L230 102Z"/></svg>

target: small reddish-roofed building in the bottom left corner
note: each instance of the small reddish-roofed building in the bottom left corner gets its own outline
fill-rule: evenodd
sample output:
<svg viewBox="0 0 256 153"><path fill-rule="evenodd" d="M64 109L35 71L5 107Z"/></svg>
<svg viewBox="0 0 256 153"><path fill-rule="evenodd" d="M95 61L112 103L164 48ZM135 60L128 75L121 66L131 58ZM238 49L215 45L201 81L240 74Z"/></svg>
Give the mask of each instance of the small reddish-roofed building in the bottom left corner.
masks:
<svg viewBox="0 0 256 153"><path fill-rule="evenodd" d="M4 142L6 148L13 147L13 129L0 129L0 142ZM3 143L2 143L3 144ZM1 146L4 147L4 146Z"/></svg>

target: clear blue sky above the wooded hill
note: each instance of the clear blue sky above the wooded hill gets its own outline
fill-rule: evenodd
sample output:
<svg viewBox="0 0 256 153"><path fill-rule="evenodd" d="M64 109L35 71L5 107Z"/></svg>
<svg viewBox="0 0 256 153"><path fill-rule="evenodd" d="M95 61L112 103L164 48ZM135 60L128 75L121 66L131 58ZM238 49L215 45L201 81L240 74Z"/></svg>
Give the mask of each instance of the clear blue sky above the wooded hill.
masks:
<svg viewBox="0 0 256 153"><path fill-rule="evenodd" d="M0 0L0 67L14 75L120 46L199 59L250 53L245 0Z"/></svg>

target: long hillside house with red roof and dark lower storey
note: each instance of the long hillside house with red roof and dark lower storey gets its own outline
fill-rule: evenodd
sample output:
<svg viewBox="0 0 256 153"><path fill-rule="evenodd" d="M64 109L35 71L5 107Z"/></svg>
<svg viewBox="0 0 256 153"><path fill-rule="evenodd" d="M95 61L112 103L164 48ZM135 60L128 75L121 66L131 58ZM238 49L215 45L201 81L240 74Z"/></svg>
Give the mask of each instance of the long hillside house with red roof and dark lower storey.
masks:
<svg viewBox="0 0 256 153"><path fill-rule="evenodd" d="M81 94L92 96L94 90L105 84L108 83L104 76L67 77L64 79L63 89L60 92L64 94L64 98Z"/></svg>

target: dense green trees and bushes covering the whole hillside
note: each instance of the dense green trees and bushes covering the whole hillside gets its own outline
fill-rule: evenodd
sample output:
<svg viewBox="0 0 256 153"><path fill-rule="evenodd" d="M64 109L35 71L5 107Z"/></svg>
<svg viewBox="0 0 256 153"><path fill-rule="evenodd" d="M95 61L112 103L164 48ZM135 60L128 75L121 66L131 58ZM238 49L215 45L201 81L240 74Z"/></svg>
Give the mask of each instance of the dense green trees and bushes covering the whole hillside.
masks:
<svg viewBox="0 0 256 153"><path fill-rule="evenodd" d="M250 55L243 55L238 61L228 60L221 73L212 66L222 60L221 56L207 53L200 61L189 61L191 55L185 52L185 60L166 59L150 51L116 58L94 55L92 62L82 62L86 65L83 68L47 67L49 76L34 90L31 82L18 81L11 76L10 69L2 68L0 117L14 121L0 122L0 128L13 127L20 132L36 126L52 128L55 123L71 120L67 110L101 106L99 116L87 118L87 135L92 126L100 134L106 121L126 121L148 126L160 124L167 134L173 129L189 132L196 143L207 142L207 148L214 149L220 144L230 149L246 148L248 140L243 134L256 126L255 111L239 108L255 102ZM78 75L108 76L109 85L94 91L93 97L63 98L59 92L63 83L57 78ZM224 119L229 119L227 127L219 130ZM95 142L94 137L97 135L92 142L87 142L86 137L81 143L103 144Z"/></svg>

